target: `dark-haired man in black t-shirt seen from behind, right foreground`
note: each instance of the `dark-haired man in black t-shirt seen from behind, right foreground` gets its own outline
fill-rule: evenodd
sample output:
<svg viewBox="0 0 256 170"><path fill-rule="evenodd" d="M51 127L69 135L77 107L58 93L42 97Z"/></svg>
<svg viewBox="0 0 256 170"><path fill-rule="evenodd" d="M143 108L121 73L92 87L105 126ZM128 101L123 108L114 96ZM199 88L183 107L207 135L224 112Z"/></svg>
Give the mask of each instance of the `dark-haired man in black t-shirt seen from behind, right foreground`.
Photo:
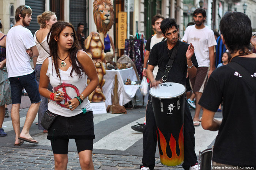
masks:
<svg viewBox="0 0 256 170"><path fill-rule="evenodd" d="M256 54L249 50L251 20L244 13L228 12L221 19L220 30L232 58L229 64L214 70L207 82L199 101L202 127L219 130L212 155L214 166L256 167ZM235 63L245 72L230 66ZM254 84L247 83L246 74ZM219 121L214 115L222 102L223 119Z"/></svg>

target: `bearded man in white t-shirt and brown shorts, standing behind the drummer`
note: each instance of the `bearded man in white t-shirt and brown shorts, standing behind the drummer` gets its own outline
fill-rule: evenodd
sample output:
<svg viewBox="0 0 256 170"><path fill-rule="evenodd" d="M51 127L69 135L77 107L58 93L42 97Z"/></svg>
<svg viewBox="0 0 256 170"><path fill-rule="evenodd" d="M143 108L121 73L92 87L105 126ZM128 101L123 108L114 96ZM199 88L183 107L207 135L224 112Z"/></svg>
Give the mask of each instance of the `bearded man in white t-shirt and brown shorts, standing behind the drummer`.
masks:
<svg viewBox="0 0 256 170"><path fill-rule="evenodd" d="M192 90L196 95L196 109L193 118L194 126L199 126L199 113L202 108L198 101L200 100L207 78L215 69L214 46L217 42L214 38L214 32L204 25L206 20L206 11L203 8L197 8L193 13L195 25L186 28L183 42L192 43L195 47L195 55L198 62L196 77L189 77ZM210 70L208 69L210 64Z"/></svg>

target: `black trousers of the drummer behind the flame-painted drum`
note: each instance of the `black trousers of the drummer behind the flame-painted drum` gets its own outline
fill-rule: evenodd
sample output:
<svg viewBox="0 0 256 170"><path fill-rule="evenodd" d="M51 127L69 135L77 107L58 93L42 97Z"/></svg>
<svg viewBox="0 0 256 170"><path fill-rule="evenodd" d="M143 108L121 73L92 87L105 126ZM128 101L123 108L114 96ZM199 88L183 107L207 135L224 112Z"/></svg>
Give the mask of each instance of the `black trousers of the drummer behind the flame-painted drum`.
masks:
<svg viewBox="0 0 256 170"><path fill-rule="evenodd" d="M143 157L141 166L149 167L153 170L155 167L155 150L157 148L157 133L151 97L146 109L146 128L143 132ZM188 102L185 101L184 114L184 163L182 167L188 170L190 166L195 165L197 157L195 153L195 127L189 110ZM141 167L140 166L140 167Z"/></svg>

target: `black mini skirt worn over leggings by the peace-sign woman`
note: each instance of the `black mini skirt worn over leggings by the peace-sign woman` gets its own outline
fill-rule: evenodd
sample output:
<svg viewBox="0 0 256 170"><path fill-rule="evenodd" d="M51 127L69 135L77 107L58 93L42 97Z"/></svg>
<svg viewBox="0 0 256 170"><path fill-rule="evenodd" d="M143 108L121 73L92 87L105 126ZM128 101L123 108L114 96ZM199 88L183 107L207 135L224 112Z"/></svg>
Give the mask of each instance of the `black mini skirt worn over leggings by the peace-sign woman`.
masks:
<svg viewBox="0 0 256 170"><path fill-rule="evenodd" d="M48 129L47 139L95 139L93 112L71 117L58 115Z"/></svg>

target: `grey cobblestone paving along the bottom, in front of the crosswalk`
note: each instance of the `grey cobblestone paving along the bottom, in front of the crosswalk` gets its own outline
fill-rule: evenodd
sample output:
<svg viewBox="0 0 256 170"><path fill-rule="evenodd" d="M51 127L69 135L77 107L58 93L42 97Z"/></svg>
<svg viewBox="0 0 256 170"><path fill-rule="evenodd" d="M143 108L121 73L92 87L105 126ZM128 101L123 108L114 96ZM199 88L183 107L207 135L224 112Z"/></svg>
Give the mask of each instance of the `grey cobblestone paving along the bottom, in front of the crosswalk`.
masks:
<svg viewBox="0 0 256 170"><path fill-rule="evenodd" d="M95 169L101 170L132 170L139 169L142 157L127 155L93 154ZM155 170L181 170L182 167L169 168L161 165L159 159L155 161ZM0 169L2 170L50 170L54 169L54 158L51 150L31 148L1 147ZM67 169L81 169L76 152L68 153Z"/></svg>

